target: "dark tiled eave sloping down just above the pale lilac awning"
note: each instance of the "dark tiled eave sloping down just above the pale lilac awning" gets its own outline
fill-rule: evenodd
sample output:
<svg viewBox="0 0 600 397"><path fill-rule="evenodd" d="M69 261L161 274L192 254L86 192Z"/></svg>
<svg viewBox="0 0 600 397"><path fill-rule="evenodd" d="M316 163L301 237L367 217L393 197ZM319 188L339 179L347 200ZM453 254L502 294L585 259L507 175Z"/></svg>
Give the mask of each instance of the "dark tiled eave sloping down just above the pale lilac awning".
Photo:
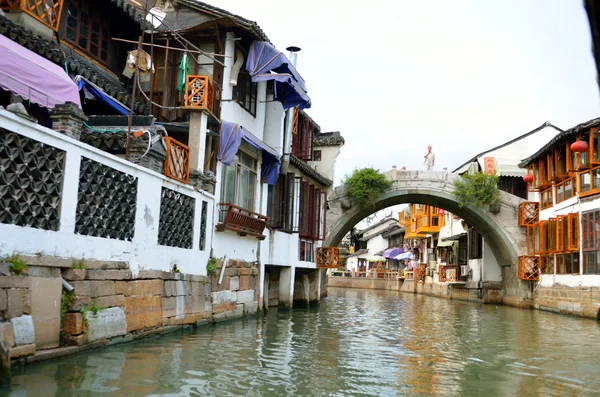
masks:
<svg viewBox="0 0 600 397"><path fill-rule="evenodd" d="M56 42L46 40L1 15L0 34L61 67L65 66L66 56L67 67L70 73L82 75L110 96L129 106L131 96L125 91L125 87L116 77L109 76L108 73L67 47L63 50ZM69 55L66 55L67 52L69 52ZM139 101L134 103L133 110L138 114L148 113L148 107Z"/></svg>

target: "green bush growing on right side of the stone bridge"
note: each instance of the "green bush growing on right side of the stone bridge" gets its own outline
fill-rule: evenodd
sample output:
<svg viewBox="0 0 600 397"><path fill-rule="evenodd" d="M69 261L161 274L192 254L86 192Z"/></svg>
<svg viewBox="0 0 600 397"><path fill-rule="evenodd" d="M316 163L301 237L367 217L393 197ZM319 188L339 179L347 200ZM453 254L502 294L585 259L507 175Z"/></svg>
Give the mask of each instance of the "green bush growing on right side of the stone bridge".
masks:
<svg viewBox="0 0 600 397"><path fill-rule="evenodd" d="M462 175L454 181L454 195L460 208L467 204L475 207L500 204L498 176L478 172L475 175Z"/></svg>

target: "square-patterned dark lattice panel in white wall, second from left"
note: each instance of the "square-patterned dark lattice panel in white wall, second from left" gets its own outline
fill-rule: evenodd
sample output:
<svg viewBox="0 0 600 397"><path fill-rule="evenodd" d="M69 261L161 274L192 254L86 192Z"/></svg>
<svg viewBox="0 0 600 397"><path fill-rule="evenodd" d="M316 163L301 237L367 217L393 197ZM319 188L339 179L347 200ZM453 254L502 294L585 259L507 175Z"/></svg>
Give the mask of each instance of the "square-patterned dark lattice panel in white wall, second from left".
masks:
<svg viewBox="0 0 600 397"><path fill-rule="evenodd" d="M131 241L136 200L136 177L82 157L75 233Z"/></svg>

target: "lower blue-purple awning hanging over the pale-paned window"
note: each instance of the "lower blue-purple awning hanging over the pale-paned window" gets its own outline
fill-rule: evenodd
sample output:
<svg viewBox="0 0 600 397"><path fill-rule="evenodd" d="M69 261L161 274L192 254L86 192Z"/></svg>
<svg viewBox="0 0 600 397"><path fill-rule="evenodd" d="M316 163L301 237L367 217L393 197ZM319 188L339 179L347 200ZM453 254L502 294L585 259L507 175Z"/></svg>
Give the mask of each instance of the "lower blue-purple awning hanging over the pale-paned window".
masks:
<svg viewBox="0 0 600 397"><path fill-rule="evenodd" d="M221 143L217 159L225 165L231 165L242 144L242 139L255 148L262 150L261 180L269 185L276 184L281 168L279 154L239 124L224 120L221 122Z"/></svg>

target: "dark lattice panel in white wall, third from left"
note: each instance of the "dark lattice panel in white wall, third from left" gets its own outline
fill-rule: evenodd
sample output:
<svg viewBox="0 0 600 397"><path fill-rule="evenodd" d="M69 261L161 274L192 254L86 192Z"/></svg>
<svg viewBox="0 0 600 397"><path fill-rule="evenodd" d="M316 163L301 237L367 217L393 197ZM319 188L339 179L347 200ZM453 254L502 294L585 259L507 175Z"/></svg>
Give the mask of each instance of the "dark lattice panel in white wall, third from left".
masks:
<svg viewBox="0 0 600 397"><path fill-rule="evenodd" d="M158 244L191 249L194 238L195 199L162 188L160 219L158 221Z"/></svg>

